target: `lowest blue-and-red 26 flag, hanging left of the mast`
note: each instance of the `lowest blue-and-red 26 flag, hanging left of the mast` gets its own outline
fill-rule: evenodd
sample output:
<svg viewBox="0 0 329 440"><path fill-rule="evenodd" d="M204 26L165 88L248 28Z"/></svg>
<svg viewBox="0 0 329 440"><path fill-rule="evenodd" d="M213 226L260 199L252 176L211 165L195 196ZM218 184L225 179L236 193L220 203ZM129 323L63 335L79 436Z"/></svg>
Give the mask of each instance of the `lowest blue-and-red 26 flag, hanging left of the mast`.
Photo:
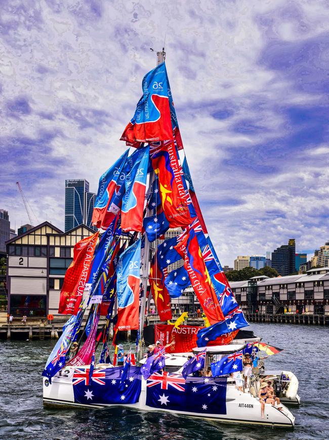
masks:
<svg viewBox="0 0 329 440"><path fill-rule="evenodd" d="M137 330L139 327L139 289L141 239L120 255L116 268L118 330Z"/></svg>

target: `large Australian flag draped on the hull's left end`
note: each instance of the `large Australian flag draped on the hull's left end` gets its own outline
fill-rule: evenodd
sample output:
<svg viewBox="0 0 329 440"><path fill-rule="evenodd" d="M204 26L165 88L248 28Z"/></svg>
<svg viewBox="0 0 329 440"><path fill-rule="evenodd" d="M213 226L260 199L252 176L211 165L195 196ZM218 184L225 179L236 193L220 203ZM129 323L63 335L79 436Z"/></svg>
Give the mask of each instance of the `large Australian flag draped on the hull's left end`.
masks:
<svg viewBox="0 0 329 440"><path fill-rule="evenodd" d="M89 368L75 368L72 378L74 403L136 403L141 393L140 367L131 366L120 389L122 367L95 369L89 380Z"/></svg>

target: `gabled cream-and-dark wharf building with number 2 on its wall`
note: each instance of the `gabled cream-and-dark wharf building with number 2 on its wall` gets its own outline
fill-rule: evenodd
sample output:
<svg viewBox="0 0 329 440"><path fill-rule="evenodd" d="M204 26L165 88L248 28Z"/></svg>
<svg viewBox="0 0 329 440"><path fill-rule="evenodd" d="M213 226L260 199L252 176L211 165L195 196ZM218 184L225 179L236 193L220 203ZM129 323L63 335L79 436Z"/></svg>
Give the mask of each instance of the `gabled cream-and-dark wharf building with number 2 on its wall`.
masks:
<svg viewBox="0 0 329 440"><path fill-rule="evenodd" d="M74 245L95 231L78 225L63 232L41 223L7 241L8 311L14 317L58 314L60 291Z"/></svg>

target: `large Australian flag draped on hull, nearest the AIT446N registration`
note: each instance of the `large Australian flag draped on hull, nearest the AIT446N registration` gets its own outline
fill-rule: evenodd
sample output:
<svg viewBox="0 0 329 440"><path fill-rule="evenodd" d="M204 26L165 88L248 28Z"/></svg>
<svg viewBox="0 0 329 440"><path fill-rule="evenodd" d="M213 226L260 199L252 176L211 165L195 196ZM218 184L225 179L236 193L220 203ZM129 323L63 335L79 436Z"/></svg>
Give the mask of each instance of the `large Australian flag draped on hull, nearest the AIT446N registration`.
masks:
<svg viewBox="0 0 329 440"><path fill-rule="evenodd" d="M226 414L226 378L193 378L154 373L147 381L146 405L198 414Z"/></svg>

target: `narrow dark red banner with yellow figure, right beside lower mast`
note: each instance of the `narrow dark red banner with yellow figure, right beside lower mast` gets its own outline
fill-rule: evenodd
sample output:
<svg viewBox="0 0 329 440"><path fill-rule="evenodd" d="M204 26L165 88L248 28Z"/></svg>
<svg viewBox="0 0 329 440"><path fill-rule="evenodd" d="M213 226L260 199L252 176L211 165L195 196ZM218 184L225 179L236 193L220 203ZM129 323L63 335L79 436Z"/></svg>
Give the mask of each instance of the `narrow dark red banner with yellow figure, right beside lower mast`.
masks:
<svg viewBox="0 0 329 440"><path fill-rule="evenodd" d="M170 295L163 284L163 281L163 273L156 264L155 256L153 256L148 282L150 284L151 293L156 310L159 314L160 321L168 321L169 319L172 319L172 310L170 304Z"/></svg>

